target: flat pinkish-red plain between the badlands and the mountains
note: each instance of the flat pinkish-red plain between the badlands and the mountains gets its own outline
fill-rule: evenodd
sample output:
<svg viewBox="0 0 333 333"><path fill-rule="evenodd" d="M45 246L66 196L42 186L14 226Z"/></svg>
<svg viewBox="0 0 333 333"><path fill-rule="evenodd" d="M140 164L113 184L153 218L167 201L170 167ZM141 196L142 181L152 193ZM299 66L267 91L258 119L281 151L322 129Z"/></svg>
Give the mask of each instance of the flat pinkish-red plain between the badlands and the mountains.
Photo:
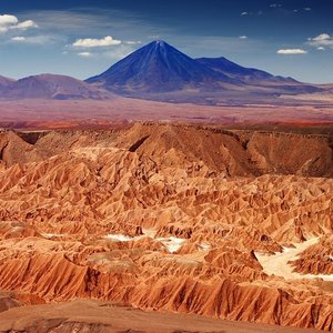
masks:
<svg viewBox="0 0 333 333"><path fill-rule="evenodd" d="M332 100L332 99L331 99ZM8 100L0 99L0 128L12 129L82 129L110 128L114 122L171 121L226 124L292 124L313 127L333 124L331 101L316 103L307 100L302 105L240 105L219 107L165 103L114 97L111 101L97 100Z"/></svg>

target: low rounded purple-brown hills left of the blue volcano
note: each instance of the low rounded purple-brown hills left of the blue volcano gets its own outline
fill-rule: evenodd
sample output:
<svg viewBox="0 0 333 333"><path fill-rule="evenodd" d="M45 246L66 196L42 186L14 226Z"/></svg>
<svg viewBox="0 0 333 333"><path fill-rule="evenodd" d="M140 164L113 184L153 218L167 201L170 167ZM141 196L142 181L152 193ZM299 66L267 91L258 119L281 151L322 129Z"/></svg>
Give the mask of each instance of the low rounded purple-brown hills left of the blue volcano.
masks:
<svg viewBox="0 0 333 333"><path fill-rule="evenodd" d="M18 81L0 79L0 98L10 99L105 99L110 93L65 75L41 74Z"/></svg>

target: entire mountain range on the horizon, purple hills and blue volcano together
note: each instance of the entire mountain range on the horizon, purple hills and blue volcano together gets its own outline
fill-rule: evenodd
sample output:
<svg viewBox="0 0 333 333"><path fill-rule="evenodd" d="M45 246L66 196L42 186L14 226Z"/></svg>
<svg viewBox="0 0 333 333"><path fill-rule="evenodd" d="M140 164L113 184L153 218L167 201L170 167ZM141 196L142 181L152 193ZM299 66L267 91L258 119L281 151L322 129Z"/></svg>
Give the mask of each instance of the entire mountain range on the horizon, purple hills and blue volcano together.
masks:
<svg viewBox="0 0 333 333"><path fill-rule="evenodd" d="M327 88L239 65L223 57L192 59L164 41L153 41L105 72L80 81L41 74L11 80L0 77L6 99L125 98L201 104L270 103L281 95L325 92Z"/></svg>

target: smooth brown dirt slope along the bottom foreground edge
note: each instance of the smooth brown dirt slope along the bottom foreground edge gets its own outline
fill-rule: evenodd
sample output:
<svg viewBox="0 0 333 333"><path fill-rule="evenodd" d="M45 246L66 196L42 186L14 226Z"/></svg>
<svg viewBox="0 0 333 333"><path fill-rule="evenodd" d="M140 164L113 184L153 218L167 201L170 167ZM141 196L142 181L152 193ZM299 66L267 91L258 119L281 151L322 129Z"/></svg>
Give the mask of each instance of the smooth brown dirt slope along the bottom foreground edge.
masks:
<svg viewBox="0 0 333 333"><path fill-rule="evenodd" d="M0 332L147 332L147 333L314 333L316 330L279 327L212 320L192 314L143 312L108 302L77 300L67 304L34 305L0 314Z"/></svg>

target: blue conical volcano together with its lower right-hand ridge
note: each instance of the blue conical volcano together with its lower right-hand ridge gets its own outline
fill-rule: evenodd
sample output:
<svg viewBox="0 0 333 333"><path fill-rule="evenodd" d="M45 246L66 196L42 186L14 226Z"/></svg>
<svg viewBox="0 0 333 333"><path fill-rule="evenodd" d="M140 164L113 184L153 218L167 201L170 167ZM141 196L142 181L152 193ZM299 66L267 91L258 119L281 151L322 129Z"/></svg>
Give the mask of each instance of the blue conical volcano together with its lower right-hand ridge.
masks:
<svg viewBox="0 0 333 333"><path fill-rule="evenodd" d="M87 82L124 97L203 104L269 103L280 95L322 91L223 57L192 59L164 41L144 46Z"/></svg>

